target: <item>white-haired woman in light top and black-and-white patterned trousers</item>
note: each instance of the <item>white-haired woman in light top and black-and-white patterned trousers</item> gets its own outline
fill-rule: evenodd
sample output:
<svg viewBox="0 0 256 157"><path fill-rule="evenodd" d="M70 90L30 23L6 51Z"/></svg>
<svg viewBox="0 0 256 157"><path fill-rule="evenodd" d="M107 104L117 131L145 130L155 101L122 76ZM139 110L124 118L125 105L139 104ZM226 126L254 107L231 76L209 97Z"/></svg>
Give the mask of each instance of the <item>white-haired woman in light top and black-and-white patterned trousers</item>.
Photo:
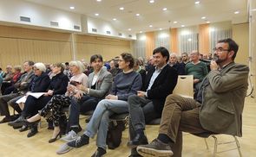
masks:
<svg viewBox="0 0 256 157"><path fill-rule="evenodd" d="M70 71L73 74L73 77L70 79L69 85L67 87L67 92L65 95L57 94L54 95L43 107L38 114L30 117L26 120L29 125L33 125L36 122L39 122L41 116L45 117L48 115L49 111L52 110L52 118L54 122L54 131L52 138L49 142L56 141L58 136L62 136L62 131L60 129L60 116L62 116L62 109L65 107L69 107L70 101L72 97L80 99L82 97L82 91L76 88L76 85L84 85L87 86L88 77L82 73L83 65L81 61L71 61L69 63Z"/></svg>

